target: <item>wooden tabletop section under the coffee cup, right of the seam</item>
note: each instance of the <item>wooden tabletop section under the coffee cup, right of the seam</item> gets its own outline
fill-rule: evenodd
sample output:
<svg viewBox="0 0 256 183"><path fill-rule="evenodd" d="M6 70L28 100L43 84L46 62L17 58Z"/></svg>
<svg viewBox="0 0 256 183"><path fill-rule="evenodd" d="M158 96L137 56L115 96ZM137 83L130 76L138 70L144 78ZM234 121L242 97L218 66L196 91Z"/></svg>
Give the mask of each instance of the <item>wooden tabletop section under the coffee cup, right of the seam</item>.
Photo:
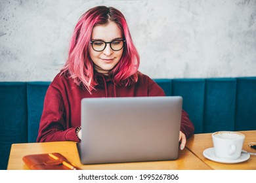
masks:
<svg viewBox="0 0 256 183"><path fill-rule="evenodd" d="M256 131L239 131L245 135L245 141L243 149L248 152L256 153L256 150L248 146L249 142L256 142ZM199 159L201 159L206 165L211 167L211 169L226 169L226 170L256 170L256 156L251 155L247 161L241 163L227 164L227 163L217 163L211 161L203 156L203 150L213 147L213 141L211 139L212 133L202 133L196 134L191 137L186 148L195 154Z"/></svg>

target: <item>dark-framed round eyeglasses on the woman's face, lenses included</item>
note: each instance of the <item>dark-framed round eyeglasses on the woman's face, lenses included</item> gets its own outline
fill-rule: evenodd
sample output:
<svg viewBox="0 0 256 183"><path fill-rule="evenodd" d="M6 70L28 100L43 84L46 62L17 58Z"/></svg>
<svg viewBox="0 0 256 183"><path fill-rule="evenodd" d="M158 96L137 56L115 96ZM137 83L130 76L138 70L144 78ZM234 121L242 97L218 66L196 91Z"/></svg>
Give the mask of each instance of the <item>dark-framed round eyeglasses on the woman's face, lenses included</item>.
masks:
<svg viewBox="0 0 256 183"><path fill-rule="evenodd" d="M90 41L91 45L93 46L93 50L96 52L102 52L106 48L106 44L110 44L110 48L114 51L119 51L123 48L123 42L125 40L123 39L116 39L111 42L105 42L105 41Z"/></svg>

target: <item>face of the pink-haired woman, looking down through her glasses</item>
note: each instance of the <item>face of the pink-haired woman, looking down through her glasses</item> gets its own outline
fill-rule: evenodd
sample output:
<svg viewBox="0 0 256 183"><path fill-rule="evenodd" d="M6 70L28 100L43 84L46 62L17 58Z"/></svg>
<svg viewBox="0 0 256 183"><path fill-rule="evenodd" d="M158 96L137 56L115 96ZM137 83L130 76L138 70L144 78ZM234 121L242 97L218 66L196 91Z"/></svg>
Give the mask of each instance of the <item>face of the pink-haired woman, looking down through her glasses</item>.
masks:
<svg viewBox="0 0 256 183"><path fill-rule="evenodd" d="M106 25L96 25L93 28L91 35L91 41L112 42L120 39L123 39L121 29L119 29L117 24L114 22L110 22ZM95 45L97 46L100 44L96 43ZM98 73L103 74L108 74L108 72L116 66L122 54L123 48L121 50L114 51L110 47L110 44L106 44L106 48L100 52L93 50L92 44L89 48L89 55L93 60L93 63L95 63L95 70L98 71Z"/></svg>

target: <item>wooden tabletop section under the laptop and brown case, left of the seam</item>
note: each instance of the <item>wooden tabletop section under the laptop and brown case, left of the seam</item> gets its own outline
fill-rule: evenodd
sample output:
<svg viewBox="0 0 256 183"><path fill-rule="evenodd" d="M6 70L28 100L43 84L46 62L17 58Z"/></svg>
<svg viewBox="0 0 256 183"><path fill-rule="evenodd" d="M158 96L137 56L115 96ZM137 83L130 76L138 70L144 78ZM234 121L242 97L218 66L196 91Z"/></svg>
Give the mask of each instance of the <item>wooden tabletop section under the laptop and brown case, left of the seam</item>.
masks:
<svg viewBox="0 0 256 183"><path fill-rule="evenodd" d="M192 152L184 149L179 152L179 159L173 161L150 161L138 163L108 163L100 165L82 165L79 160L75 142L41 142L12 144L8 170L22 170L28 167L22 161L22 157L28 154L44 154L59 152L70 162L81 169L90 170L168 170L168 169L210 169Z"/></svg>

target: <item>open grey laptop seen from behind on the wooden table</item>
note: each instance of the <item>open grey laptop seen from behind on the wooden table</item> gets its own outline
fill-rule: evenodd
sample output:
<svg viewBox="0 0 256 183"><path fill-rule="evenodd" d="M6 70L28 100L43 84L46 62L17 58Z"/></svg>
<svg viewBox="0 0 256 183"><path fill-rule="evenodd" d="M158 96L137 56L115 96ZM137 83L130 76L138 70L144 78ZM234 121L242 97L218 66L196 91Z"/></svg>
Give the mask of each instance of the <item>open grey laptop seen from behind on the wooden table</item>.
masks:
<svg viewBox="0 0 256 183"><path fill-rule="evenodd" d="M181 110L179 96L82 99L81 163L177 159Z"/></svg>

